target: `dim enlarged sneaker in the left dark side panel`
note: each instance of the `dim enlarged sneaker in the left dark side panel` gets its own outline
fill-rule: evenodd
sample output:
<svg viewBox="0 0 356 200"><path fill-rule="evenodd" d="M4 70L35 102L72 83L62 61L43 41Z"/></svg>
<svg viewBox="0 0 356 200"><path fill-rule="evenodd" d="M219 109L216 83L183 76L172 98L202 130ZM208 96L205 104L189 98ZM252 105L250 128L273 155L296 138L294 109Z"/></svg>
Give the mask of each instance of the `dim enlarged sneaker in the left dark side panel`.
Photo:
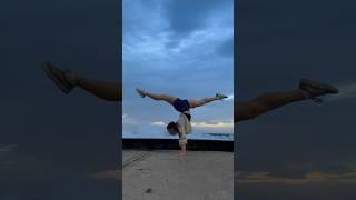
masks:
<svg viewBox="0 0 356 200"><path fill-rule="evenodd" d="M72 76L71 70L60 70L55 68L50 62L44 62L42 70L62 92L70 93L75 88L75 83L70 81L70 76Z"/></svg>

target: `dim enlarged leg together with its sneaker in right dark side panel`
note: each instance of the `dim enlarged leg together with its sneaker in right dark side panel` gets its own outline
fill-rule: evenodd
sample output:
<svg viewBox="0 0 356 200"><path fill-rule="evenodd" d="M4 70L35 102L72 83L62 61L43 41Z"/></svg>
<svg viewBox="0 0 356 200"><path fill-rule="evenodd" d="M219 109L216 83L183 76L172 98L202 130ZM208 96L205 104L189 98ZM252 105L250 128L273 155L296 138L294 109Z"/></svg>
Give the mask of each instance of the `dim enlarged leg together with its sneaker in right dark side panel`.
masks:
<svg viewBox="0 0 356 200"><path fill-rule="evenodd" d="M250 120L279 107L301 100L310 99L317 103L322 103L320 96L338 92L338 89L330 84L301 79L299 88L296 90L265 93L248 102L235 101L234 122Z"/></svg>

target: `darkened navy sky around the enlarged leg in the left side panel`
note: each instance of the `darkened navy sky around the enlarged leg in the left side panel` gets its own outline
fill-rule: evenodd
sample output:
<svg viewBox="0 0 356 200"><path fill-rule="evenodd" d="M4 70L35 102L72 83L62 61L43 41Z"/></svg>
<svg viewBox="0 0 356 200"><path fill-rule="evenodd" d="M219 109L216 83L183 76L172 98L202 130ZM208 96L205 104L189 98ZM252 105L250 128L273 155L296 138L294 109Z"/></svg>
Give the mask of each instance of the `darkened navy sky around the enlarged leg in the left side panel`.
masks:
<svg viewBox="0 0 356 200"><path fill-rule="evenodd" d="M92 178L119 166L119 106L79 89L65 96L40 69L49 60L120 81L119 3L0 3L1 200L119 199L117 181Z"/></svg>

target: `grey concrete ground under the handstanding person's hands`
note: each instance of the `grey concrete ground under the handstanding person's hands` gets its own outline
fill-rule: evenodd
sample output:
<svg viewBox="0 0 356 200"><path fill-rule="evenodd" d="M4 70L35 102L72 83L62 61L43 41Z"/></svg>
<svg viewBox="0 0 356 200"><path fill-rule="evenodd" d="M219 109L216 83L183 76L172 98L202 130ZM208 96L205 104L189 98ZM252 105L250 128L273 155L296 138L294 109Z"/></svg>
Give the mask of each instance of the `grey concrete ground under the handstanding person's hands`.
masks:
<svg viewBox="0 0 356 200"><path fill-rule="evenodd" d="M123 151L123 200L233 200L234 152Z"/></svg>

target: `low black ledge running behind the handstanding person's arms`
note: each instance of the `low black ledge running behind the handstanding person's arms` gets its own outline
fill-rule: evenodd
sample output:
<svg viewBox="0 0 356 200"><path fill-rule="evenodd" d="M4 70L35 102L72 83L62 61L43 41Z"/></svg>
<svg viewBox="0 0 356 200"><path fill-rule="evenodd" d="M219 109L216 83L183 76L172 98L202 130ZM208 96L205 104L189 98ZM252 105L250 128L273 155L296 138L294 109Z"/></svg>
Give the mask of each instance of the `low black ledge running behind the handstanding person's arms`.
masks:
<svg viewBox="0 0 356 200"><path fill-rule="evenodd" d="M122 149L135 150L178 150L177 139L122 139ZM234 151L234 141L188 140L190 151Z"/></svg>

